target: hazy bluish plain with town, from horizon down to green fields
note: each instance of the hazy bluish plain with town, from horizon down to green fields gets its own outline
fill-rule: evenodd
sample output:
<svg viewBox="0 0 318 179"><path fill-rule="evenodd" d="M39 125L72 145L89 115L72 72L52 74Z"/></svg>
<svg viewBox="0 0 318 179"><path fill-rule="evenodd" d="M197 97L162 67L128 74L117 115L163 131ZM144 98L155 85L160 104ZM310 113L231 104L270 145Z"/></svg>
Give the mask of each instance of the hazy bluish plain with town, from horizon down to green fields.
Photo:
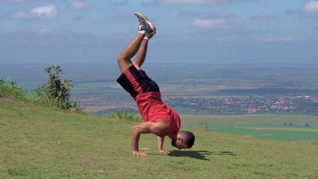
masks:
<svg viewBox="0 0 318 179"><path fill-rule="evenodd" d="M29 91L47 81L49 65L4 64L0 76L11 76ZM122 106L136 109L134 100L116 83L117 64L62 64L71 79L72 96L89 112L109 112ZM292 113L318 115L317 64L145 64L159 84L163 101L180 113Z"/></svg>

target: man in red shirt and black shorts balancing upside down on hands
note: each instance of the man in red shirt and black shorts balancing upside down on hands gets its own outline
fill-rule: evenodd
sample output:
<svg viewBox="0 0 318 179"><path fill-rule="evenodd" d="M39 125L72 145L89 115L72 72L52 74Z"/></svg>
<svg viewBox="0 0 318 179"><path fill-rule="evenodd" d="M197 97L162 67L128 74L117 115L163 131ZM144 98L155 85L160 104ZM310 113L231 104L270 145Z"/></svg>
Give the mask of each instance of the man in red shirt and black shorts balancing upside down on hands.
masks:
<svg viewBox="0 0 318 179"><path fill-rule="evenodd" d="M145 152L139 151L138 142L141 134L149 133L158 136L160 153L170 153L162 148L165 136L172 140L173 147L179 150L190 149L195 139L193 133L179 131L179 115L161 101L158 85L140 69L146 59L148 40L156 34L156 27L143 14L135 12L135 15L139 19L139 32L117 59L122 73L117 82L135 99L139 112L145 121L132 127L133 155L147 156ZM137 56L132 62L131 58L136 54Z"/></svg>

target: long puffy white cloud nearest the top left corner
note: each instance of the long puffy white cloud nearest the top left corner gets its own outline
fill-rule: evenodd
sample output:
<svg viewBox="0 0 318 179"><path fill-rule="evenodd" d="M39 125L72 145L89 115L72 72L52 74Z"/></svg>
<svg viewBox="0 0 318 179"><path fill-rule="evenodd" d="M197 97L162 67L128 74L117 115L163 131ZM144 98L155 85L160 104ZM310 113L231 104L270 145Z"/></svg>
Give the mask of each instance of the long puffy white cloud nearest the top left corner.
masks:
<svg viewBox="0 0 318 179"><path fill-rule="evenodd" d="M58 9L54 5L36 7L30 11L14 11L7 14L12 19L53 19L58 15Z"/></svg>

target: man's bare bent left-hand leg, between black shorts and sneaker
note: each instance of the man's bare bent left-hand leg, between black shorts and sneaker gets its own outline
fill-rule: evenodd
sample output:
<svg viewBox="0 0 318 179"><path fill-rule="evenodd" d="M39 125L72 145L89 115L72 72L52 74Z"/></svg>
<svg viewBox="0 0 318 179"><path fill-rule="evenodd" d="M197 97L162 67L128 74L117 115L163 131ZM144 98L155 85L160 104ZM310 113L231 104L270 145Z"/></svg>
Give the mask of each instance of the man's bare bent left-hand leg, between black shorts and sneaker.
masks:
<svg viewBox="0 0 318 179"><path fill-rule="evenodd" d="M134 40L132 40L124 49L124 51L118 56L117 62L118 62L119 70L121 73L125 72L125 70L127 70L129 67L133 65L130 59L133 58L138 52L140 45L142 44L145 36L146 35L143 33L138 33L137 36L134 38ZM147 51L147 48L146 48L146 51ZM146 57L146 54L145 54L145 57Z"/></svg>

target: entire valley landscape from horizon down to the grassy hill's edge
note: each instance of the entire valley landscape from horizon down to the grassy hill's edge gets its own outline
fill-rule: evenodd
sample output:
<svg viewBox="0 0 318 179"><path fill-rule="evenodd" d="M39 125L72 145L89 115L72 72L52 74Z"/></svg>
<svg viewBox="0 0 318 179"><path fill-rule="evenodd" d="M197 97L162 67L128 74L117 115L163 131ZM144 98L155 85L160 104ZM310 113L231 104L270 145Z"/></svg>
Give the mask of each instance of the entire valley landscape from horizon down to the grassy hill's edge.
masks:
<svg viewBox="0 0 318 179"><path fill-rule="evenodd" d="M4 64L0 76L32 92L47 81L49 64ZM138 113L116 83L117 64L60 64L74 85L72 97L98 115L121 107ZM318 64L145 64L162 100L182 126L210 132L318 143ZM13 76L12 76L13 74ZM253 114L253 115L252 115Z"/></svg>

